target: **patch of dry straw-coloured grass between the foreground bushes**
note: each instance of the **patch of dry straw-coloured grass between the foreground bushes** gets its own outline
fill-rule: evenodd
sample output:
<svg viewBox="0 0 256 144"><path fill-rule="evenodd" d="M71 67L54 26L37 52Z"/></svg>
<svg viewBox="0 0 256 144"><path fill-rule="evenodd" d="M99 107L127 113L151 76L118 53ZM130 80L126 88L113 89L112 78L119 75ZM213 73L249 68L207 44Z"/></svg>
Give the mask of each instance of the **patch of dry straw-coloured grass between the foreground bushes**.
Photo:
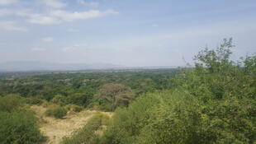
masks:
<svg viewBox="0 0 256 144"><path fill-rule="evenodd" d="M50 144L58 144L63 137L69 137L75 130L83 128L89 118L97 114L95 110L83 110L79 113L69 112L63 119L57 119L46 117L47 108L43 106L33 105L31 109L36 112L37 118L40 118L40 131L47 137L45 143ZM103 114L112 115L111 113Z"/></svg>

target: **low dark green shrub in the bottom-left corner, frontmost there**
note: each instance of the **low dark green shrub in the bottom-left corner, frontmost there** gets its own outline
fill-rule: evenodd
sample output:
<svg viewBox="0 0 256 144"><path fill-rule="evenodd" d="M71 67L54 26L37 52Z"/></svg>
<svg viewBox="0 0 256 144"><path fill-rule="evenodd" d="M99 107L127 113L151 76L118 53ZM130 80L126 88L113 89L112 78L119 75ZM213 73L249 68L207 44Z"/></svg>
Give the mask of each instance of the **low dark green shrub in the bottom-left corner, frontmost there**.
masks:
<svg viewBox="0 0 256 144"><path fill-rule="evenodd" d="M0 111L0 143L40 143L43 137L33 113Z"/></svg>

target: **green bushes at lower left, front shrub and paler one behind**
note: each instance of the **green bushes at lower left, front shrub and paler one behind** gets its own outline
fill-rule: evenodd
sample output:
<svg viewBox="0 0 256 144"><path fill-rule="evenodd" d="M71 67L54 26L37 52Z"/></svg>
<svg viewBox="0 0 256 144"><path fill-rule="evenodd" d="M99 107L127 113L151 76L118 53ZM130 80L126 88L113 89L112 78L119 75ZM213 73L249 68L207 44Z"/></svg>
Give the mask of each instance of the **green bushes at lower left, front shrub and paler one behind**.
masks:
<svg viewBox="0 0 256 144"><path fill-rule="evenodd" d="M30 144L42 141L36 118L18 95L0 97L0 143Z"/></svg>

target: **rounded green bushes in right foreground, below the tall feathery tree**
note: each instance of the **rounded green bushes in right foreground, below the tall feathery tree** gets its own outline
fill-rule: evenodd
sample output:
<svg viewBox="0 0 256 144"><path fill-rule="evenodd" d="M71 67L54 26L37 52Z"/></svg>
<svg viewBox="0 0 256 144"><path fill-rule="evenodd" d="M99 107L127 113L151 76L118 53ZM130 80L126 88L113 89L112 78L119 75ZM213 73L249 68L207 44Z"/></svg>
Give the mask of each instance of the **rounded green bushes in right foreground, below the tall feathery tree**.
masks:
<svg viewBox="0 0 256 144"><path fill-rule="evenodd" d="M102 143L253 143L255 101L204 103L186 91L145 95L119 109Z"/></svg>

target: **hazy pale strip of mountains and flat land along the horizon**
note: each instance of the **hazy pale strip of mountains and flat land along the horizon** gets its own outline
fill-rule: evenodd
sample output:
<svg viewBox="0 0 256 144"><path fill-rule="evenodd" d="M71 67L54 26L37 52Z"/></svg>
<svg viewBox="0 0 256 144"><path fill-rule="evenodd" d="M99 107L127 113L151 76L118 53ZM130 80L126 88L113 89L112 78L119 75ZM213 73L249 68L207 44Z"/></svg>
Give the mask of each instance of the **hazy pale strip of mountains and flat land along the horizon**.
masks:
<svg viewBox="0 0 256 144"><path fill-rule="evenodd" d="M148 66L129 67L112 63L47 63L40 61L14 61L0 63L0 72L31 72L31 71L83 71L83 70L109 70L109 69L155 69L177 68L187 66Z"/></svg>

